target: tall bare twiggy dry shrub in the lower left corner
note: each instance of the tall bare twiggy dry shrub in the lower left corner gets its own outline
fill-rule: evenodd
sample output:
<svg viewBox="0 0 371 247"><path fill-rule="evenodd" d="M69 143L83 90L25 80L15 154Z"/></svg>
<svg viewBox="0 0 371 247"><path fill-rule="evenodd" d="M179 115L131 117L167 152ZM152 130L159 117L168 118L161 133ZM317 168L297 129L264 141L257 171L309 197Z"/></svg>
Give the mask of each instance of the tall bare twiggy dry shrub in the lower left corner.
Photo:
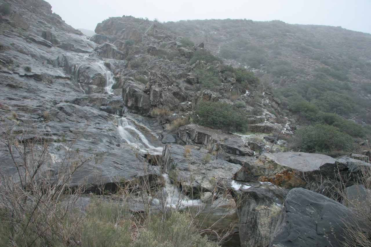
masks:
<svg viewBox="0 0 371 247"><path fill-rule="evenodd" d="M69 185L87 159L69 148L62 159L53 160L49 148L52 137L47 131L1 128L1 132L0 141L16 172L10 176L0 171L0 242L7 246L77 244L78 217L64 223L82 191Z"/></svg>

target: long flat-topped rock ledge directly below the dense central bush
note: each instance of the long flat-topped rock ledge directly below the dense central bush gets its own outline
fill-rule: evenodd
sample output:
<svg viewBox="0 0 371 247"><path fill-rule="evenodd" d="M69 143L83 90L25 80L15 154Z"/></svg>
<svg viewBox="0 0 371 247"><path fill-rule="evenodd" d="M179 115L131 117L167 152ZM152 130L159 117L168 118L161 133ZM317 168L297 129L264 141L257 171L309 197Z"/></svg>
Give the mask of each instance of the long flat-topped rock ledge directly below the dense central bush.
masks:
<svg viewBox="0 0 371 247"><path fill-rule="evenodd" d="M227 134L220 130L206 128L196 124L181 126L178 129L178 136L186 143L205 144L207 142L214 142L217 144L216 149L220 147L228 154L254 154L250 147L238 135Z"/></svg>

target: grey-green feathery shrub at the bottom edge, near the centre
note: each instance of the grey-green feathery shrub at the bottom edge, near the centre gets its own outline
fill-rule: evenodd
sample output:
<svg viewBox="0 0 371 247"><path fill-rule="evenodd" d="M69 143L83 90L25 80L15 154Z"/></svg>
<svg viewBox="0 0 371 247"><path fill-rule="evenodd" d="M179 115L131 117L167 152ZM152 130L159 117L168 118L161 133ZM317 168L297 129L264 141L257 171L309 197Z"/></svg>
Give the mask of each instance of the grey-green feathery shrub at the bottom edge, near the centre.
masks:
<svg viewBox="0 0 371 247"><path fill-rule="evenodd" d="M141 230L133 247L217 247L218 245L201 237L190 217L185 213L173 211L162 221L161 217L151 217L148 227Z"/></svg>

